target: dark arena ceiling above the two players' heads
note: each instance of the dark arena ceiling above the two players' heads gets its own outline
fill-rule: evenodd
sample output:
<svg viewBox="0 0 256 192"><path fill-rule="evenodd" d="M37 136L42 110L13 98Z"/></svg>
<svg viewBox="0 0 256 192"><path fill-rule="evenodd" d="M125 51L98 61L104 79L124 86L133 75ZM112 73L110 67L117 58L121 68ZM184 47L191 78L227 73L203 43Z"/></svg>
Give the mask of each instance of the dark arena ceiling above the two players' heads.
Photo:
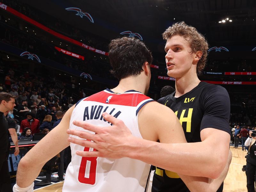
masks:
<svg viewBox="0 0 256 192"><path fill-rule="evenodd" d="M255 0L23 0L76 28L106 40L123 31L139 33L152 51L163 51L161 34L173 22L185 21L204 34L209 44L256 43ZM68 7L89 13L93 23ZM228 18L228 19L227 19ZM219 23L225 20L226 22ZM232 20L230 22L229 20Z"/></svg>

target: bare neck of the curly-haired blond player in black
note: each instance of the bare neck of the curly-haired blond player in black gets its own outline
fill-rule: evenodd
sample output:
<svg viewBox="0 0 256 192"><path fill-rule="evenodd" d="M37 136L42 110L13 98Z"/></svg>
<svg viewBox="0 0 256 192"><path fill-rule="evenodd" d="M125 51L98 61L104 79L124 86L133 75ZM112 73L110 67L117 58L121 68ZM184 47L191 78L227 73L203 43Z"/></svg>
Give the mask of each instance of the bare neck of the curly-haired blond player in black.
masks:
<svg viewBox="0 0 256 192"><path fill-rule="evenodd" d="M185 75L180 78L176 78L175 80L175 96L176 98L184 95L187 92L190 92L192 89L194 89L198 84L200 83L200 80L198 79L196 74L193 75Z"/></svg>

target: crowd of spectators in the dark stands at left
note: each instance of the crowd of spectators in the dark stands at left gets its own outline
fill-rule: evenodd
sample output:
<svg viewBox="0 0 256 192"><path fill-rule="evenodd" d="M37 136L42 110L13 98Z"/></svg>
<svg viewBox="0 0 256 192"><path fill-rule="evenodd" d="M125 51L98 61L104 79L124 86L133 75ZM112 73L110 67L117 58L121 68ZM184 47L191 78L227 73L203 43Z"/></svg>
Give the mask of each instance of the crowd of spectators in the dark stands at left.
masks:
<svg viewBox="0 0 256 192"><path fill-rule="evenodd" d="M78 90L77 98L72 98L65 84L60 86L50 77L31 76L27 72L20 74L12 68L2 70L6 75L1 76L0 91L16 96L16 107L7 116L15 119L21 137L51 131L68 108L86 97L84 90Z"/></svg>

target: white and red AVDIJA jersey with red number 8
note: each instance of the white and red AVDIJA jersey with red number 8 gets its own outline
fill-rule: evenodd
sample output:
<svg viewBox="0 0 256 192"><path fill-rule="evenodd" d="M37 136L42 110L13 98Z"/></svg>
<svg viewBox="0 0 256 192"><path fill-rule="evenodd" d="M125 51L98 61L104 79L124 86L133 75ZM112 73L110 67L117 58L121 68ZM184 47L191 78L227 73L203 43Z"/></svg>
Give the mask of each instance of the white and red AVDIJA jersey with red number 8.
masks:
<svg viewBox="0 0 256 192"><path fill-rule="evenodd" d="M109 126L102 117L107 112L124 121L132 135L142 138L138 127L138 112L146 103L154 101L144 94L131 90L122 94L109 89L80 100L74 108L70 129L87 131L72 124L74 120ZM94 132L92 132L94 133ZM78 138L70 135L70 137ZM150 165L142 161L121 158L81 157L76 151L92 151L71 143L71 163L65 176L64 192L144 192Z"/></svg>

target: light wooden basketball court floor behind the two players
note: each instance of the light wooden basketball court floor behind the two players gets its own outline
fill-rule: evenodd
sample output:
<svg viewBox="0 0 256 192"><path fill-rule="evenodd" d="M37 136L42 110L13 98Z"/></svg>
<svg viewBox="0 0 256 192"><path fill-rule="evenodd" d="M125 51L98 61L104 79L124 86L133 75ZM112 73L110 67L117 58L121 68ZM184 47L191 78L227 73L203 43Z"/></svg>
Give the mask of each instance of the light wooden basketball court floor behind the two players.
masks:
<svg viewBox="0 0 256 192"><path fill-rule="evenodd" d="M223 192L246 192L246 175L242 171L243 165L246 164L244 156L247 152L242 151L241 147L233 148L230 146L230 150L233 154L232 161L228 170L228 175L224 180ZM37 188L36 192L61 192L63 186L62 182L57 182L42 188Z"/></svg>

